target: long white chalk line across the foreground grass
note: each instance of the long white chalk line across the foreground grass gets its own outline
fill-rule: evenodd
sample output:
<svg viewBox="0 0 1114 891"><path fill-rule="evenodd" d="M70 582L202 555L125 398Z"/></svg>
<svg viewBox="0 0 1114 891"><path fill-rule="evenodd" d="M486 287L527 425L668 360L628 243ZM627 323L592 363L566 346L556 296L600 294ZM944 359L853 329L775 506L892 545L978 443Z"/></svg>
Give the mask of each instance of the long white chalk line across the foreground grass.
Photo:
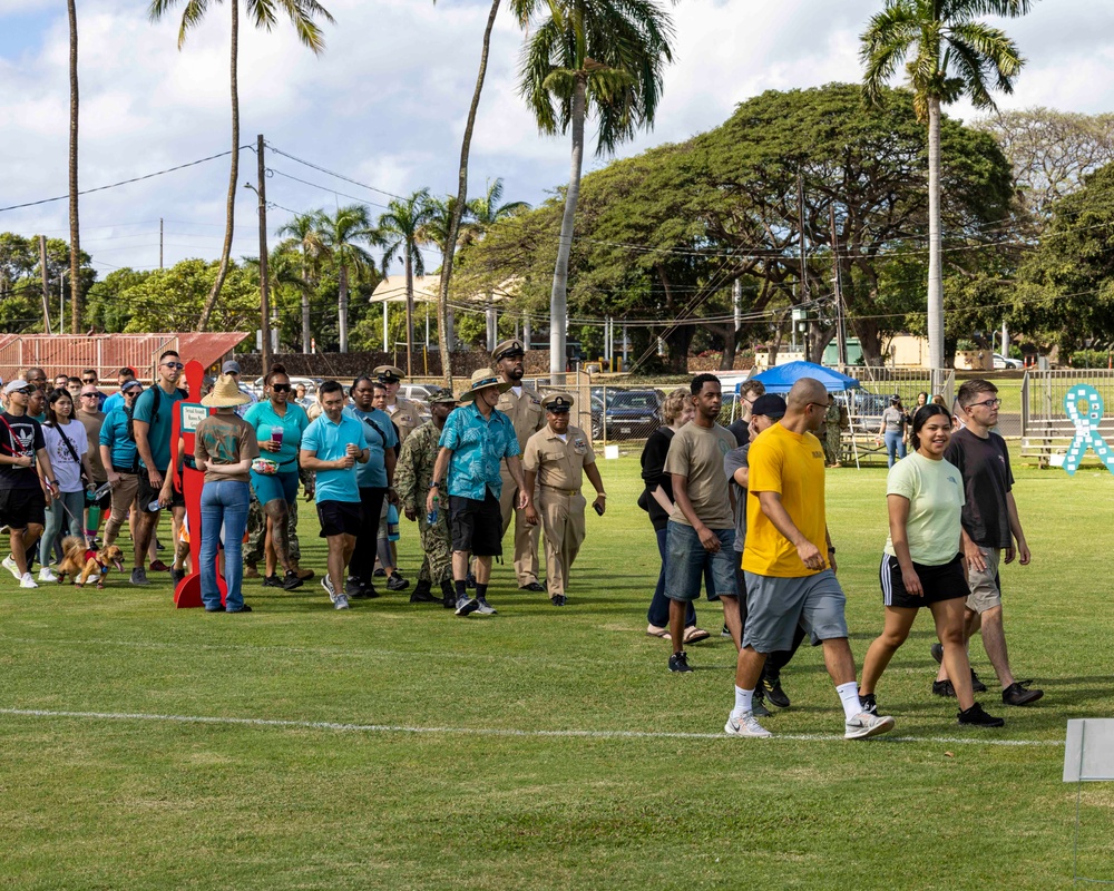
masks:
<svg viewBox="0 0 1114 891"><path fill-rule="evenodd" d="M293 721L289 718L219 717L215 715L158 715L144 712L67 712L46 708L0 708L0 715L13 717L81 718L87 721L152 721L174 724L221 724L244 727L281 727L342 733L453 734L462 736L509 736L535 738L586 740L727 740L725 733L683 733L668 731L525 731L514 727L413 727L401 724L343 724L332 721ZM779 733L773 740L805 743L846 742L842 736L820 733ZM986 740L962 736L882 736L890 743L930 743L934 745L996 745L1020 747L1063 746L1062 740Z"/></svg>

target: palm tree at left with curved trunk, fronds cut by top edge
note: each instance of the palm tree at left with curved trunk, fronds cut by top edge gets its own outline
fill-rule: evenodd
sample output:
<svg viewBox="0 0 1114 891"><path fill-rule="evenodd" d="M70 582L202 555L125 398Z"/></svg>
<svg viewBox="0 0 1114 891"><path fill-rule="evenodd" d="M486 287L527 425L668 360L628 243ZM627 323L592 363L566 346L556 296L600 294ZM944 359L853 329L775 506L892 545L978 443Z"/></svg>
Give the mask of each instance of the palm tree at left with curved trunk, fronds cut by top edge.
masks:
<svg viewBox="0 0 1114 891"><path fill-rule="evenodd" d="M185 8L182 10L182 25L178 27L178 49L186 42L186 35L190 28L197 26L212 0L185 0ZM216 0L221 2L221 0ZM297 32L297 38L305 46L313 50L315 55L321 55L325 48L325 40L321 35L314 18L321 17L332 23L333 17L329 10L321 6L317 0L245 0L248 18L256 28L265 31L274 29L277 21L277 12L283 12L290 19L291 25ZM147 17L150 21L158 21L175 6L178 0L150 0L147 8ZM238 86L238 60L240 60L240 0L231 0L228 3L232 10L232 165L228 174L228 199L225 213L224 247L221 251L221 266L217 270L213 288L205 298L202 306L201 317L197 320L197 330L204 331L208 325L213 307L217 297L221 296L221 288L224 280L228 275L228 262L232 257L232 236L235 227L236 216L236 182L240 179L240 86Z"/></svg>

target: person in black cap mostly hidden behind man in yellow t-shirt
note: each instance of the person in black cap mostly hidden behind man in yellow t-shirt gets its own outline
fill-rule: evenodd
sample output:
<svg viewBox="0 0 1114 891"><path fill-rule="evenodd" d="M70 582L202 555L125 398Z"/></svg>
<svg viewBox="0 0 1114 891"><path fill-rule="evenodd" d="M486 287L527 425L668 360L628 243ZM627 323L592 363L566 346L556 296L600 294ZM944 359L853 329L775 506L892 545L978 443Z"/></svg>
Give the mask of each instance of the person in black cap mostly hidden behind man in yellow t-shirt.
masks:
<svg viewBox="0 0 1114 891"><path fill-rule="evenodd" d="M751 411L750 440L759 433L769 430L778 421L785 417L785 400L779 395L766 393L754 400ZM743 575L743 550L746 547L746 487L750 479L750 463L746 456L750 453L751 443L747 441L741 449L732 449L724 456L723 472L731 480L731 488L734 497L735 512L735 584L739 586L739 613L740 629L746 625L746 579ZM793 645L789 649L779 649L766 656L765 665L762 667L762 677L754 688L754 716L769 717L770 709L763 704L769 699L771 704L779 708L789 708L790 699L785 691L781 687L781 669L789 665L798 647L804 639L804 629L798 625L793 631ZM735 649L742 646L741 639L735 639Z"/></svg>

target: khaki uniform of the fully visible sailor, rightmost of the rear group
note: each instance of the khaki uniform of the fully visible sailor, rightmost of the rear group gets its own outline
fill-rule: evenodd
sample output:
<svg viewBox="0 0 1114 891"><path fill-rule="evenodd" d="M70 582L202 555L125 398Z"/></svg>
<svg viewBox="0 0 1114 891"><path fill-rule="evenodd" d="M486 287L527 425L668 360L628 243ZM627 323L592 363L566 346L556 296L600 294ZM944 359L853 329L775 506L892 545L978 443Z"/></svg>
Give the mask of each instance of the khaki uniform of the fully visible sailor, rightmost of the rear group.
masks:
<svg viewBox="0 0 1114 891"><path fill-rule="evenodd" d="M547 424L526 443L522 467L538 474L538 515L546 530L546 582L549 596L565 594L568 572L584 541L580 495L584 466L594 463L588 438L569 424L565 441Z"/></svg>

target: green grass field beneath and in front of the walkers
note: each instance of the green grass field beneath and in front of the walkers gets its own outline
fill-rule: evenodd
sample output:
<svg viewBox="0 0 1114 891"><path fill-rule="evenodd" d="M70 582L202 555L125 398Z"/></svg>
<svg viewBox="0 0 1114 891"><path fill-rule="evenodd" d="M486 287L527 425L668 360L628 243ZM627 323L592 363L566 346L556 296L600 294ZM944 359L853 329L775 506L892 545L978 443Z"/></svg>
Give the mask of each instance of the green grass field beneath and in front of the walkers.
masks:
<svg viewBox="0 0 1114 891"><path fill-rule="evenodd" d="M783 675L793 705L765 721L780 737L723 735L733 648L715 634L690 650L697 670L668 674L668 645L644 634L658 560L637 456L602 467L610 510L589 512L564 610L506 567L499 615L469 619L407 594L336 613L315 579L250 582L255 611L226 616L175 610L168 582L26 591L3 574L0 885L1072 884L1065 722L1114 716L1114 477L1017 470L1034 562L1005 570L1006 623L1045 698L1007 712L984 694L1005 730L960 730L928 692L925 616L878 689L896 732L848 743L817 650ZM881 628L885 470L832 471L828 488L861 664ZM698 611L717 633L719 610ZM1089 784L1079 805L1078 874L1114 880L1114 789Z"/></svg>

